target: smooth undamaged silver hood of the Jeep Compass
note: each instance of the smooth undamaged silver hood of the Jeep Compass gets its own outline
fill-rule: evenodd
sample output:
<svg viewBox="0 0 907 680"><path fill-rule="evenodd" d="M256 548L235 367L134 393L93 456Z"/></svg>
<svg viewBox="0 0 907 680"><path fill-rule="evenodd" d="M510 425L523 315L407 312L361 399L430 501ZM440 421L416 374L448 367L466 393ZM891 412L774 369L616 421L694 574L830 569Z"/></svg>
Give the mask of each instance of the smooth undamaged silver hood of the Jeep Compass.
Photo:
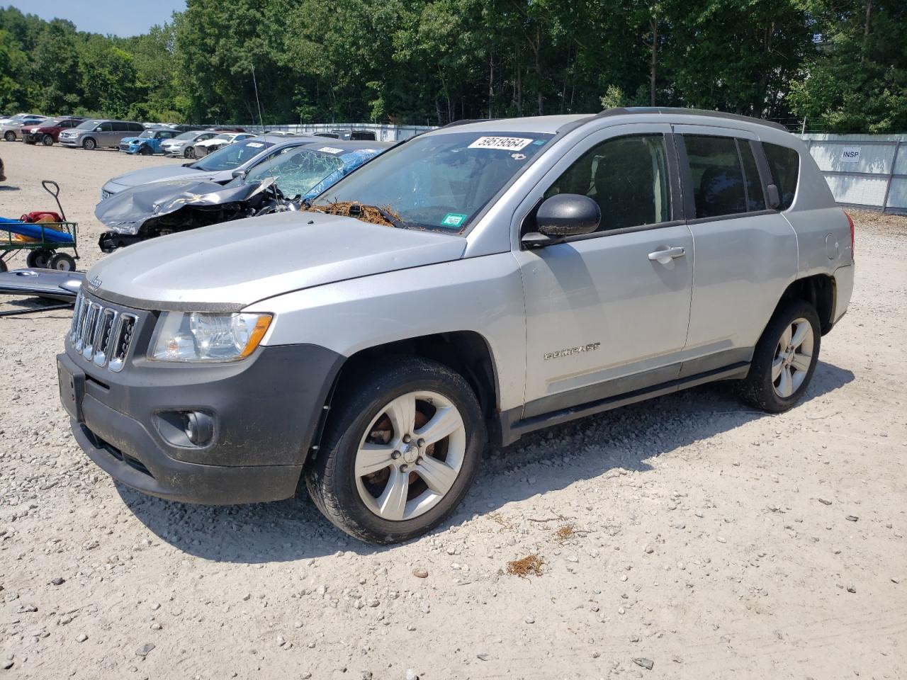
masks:
<svg viewBox="0 0 907 680"><path fill-rule="evenodd" d="M466 239L316 212L285 212L122 248L85 276L90 293L140 309L239 311L349 278L450 262Z"/></svg>

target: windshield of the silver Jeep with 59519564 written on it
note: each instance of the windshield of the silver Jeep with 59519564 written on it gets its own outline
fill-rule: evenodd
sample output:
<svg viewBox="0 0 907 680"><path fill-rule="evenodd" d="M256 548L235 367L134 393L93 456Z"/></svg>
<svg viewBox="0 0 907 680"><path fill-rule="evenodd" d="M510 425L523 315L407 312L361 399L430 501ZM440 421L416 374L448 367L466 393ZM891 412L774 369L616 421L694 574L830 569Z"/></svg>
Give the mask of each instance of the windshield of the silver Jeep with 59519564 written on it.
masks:
<svg viewBox="0 0 907 680"><path fill-rule="evenodd" d="M551 137L475 131L418 137L340 180L314 205L375 206L406 227L457 233Z"/></svg>

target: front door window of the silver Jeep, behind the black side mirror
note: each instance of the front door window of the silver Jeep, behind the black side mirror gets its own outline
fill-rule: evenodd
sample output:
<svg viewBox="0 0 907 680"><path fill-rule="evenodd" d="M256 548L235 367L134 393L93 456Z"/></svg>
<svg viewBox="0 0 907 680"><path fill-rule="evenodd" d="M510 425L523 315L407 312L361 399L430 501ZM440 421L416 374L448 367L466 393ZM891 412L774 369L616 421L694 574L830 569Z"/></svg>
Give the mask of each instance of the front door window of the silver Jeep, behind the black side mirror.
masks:
<svg viewBox="0 0 907 680"><path fill-rule="evenodd" d="M664 136L634 135L603 141L584 153L545 192L581 194L599 204L598 231L671 219Z"/></svg>

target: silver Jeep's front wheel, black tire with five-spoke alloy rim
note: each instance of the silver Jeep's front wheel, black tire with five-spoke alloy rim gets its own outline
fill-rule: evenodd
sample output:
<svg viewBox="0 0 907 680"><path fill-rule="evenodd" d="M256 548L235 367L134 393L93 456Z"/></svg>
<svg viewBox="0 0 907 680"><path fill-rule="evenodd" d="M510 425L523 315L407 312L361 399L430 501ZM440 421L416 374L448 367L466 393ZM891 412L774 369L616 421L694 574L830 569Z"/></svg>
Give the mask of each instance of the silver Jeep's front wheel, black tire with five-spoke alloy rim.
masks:
<svg viewBox="0 0 907 680"><path fill-rule="evenodd" d="M308 492L336 527L395 543L433 529L473 483L486 441L463 376L415 356L379 357L327 424L306 471Z"/></svg>

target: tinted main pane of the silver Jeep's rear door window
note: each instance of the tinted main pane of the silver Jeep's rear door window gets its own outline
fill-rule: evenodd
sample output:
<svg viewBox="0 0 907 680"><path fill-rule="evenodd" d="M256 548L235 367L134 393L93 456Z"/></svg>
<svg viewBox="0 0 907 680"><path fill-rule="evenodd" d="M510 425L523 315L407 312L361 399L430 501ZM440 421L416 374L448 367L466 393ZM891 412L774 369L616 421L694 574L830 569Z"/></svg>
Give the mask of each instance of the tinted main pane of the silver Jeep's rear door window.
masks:
<svg viewBox="0 0 907 680"><path fill-rule="evenodd" d="M743 168L733 137L684 135L697 218L746 212Z"/></svg>

